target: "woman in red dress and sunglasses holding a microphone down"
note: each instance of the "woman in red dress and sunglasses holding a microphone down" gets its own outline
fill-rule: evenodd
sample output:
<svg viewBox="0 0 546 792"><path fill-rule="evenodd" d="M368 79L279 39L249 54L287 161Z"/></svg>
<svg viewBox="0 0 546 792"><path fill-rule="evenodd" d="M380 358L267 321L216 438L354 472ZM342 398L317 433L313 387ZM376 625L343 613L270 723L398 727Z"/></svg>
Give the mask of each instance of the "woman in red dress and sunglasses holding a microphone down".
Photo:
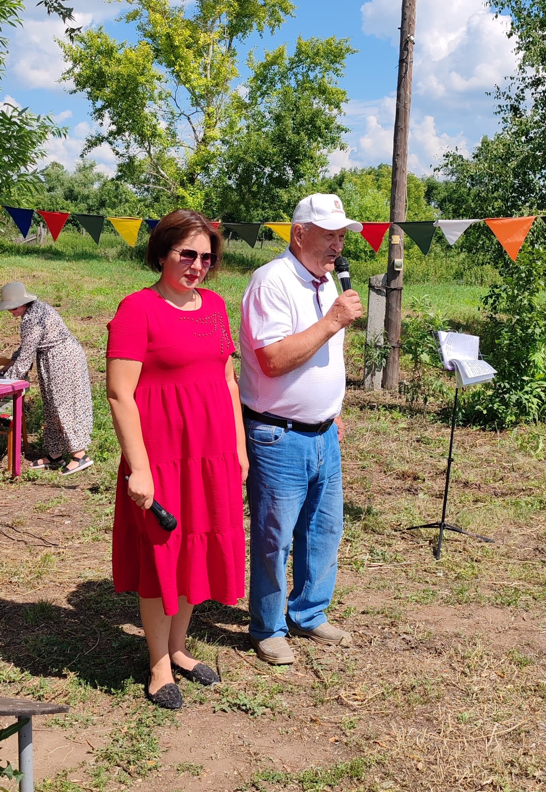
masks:
<svg viewBox="0 0 546 792"><path fill-rule="evenodd" d="M185 648L193 605L244 596L248 460L235 346L223 299L197 288L222 243L203 215L166 215L146 253L159 280L125 297L108 326L107 390L122 451L113 579L116 591L139 592L147 697L169 709L182 706L173 670L220 681ZM154 498L178 520L174 531L148 511Z"/></svg>

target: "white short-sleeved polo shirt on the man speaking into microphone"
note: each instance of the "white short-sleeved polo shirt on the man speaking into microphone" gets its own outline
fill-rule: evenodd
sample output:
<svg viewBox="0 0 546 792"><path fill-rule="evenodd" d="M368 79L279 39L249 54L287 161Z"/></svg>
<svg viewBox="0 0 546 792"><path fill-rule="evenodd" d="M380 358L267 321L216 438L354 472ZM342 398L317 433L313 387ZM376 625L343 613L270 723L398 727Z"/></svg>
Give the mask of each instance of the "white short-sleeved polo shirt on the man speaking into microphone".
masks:
<svg viewBox="0 0 546 792"><path fill-rule="evenodd" d="M321 313L313 280L319 279L287 248L281 258L254 272L242 295L239 390L242 404L257 413L319 424L342 411L346 384L343 330L303 366L280 377L267 377L254 352L307 330L326 315L338 290L329 274L319 287Z"/></svg>

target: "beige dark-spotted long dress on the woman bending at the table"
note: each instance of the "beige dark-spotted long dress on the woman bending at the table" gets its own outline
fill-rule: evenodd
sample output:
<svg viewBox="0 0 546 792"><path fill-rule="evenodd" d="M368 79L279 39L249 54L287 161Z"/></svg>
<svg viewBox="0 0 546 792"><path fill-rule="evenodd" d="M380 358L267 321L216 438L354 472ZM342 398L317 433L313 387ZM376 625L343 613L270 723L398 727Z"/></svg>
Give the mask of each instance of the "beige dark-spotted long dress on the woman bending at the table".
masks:
<svg viewBox="0 0 546 792"><path fill-rule="evenodd" d="M93 403L86 353L55 308L36 299L21 320L21 346L5 376L25 379L36 353L44 402L44 447L57 457L88 448Z"/></svg>

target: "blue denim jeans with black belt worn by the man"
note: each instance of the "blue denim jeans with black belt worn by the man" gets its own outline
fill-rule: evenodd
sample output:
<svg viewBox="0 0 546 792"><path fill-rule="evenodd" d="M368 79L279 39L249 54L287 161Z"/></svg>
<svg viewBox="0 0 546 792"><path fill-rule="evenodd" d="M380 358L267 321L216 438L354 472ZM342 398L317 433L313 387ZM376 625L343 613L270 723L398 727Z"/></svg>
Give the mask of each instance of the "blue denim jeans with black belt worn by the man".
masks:
<svg viewBox="0 0 546 792"><path fill-rule="evenodd" d="M292 546L288 618L304 630L326 622L343 530L338 427L294 432L245 420L250 472L250 634L286 635L286 564Z"/></svg>

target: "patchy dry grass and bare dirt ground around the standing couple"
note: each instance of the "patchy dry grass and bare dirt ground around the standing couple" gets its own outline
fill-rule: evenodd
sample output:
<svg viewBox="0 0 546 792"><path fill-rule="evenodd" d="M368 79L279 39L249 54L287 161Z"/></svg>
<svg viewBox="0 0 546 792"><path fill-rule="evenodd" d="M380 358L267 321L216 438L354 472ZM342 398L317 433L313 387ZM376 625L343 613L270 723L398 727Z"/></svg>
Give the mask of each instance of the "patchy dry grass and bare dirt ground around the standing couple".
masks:
<svg viewBox="0 0 546 792"><path fill-rule="evenodd" d="M192 648L223 684L211 691L181 680L185 708L177 714L146 703L136 597L116 596L110 577L119 451L105 402L104 350L121 297L155 279L139 261L120 258L116 244L106 239L97 254L74 234L60 249L37 255L7 246L0 257L2 283L23 280L58 307L86 348L94 383L95 466L67 481L29 470L18 482L2 478L0 695L71 706L66 716L36 719L38 792L540 790L540 426L457 429L449 518L494 544L449 535L436 562L433 533L405 528L440 516L449 440L440 406L424 414L402 397L349 390L346 527L329 618L351 630L353 647L294 638L296 664L271 668L250 649L246 602L207 602L195 610ZM266 244L250 264L276 250ZM229 267L211 285L227 301L236 337L250 264L242 246L228 253ZM365 294L365 281L357 286ZM404 305L428 295L454 326L472 326L484 291L414 282ZM7 314L0 335L3 355L17 343ZM38 444L36 385L28 407ZM0 746L0 759L16 752L13 737Z"/></svg>

